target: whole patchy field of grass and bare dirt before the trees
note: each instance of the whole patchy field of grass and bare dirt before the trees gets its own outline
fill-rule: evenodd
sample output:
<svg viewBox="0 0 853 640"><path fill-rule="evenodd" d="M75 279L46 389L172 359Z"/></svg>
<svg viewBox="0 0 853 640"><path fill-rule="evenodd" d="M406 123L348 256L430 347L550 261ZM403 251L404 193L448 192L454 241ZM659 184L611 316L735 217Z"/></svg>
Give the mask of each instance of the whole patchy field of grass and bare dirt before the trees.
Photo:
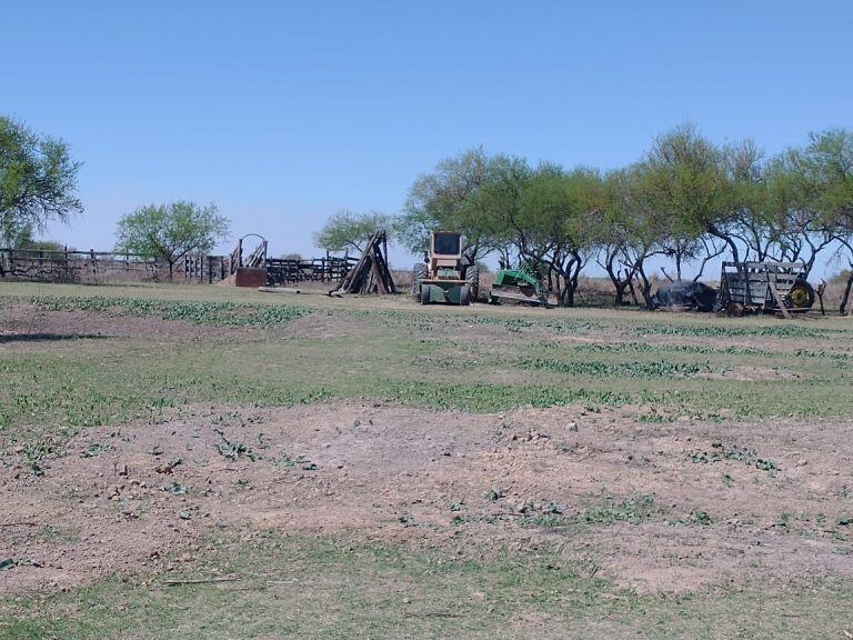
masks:
<svg viewBox="0 0 853 640"><path fill-rule="evenodd" d="M853 323L0 287L0 638L845 638Z"/></svg>

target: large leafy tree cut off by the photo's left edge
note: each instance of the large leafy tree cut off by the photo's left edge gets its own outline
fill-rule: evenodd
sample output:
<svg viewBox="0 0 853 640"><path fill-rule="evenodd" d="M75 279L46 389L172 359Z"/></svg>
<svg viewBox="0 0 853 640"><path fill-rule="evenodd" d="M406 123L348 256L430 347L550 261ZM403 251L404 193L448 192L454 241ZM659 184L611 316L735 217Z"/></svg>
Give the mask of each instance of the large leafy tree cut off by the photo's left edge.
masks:
<svg viewBox="0 0 853 640"><path fill-rule="evenodd" d="M0 116L0 244L82 211L77 197L81 166L61 140Z"/></svg>

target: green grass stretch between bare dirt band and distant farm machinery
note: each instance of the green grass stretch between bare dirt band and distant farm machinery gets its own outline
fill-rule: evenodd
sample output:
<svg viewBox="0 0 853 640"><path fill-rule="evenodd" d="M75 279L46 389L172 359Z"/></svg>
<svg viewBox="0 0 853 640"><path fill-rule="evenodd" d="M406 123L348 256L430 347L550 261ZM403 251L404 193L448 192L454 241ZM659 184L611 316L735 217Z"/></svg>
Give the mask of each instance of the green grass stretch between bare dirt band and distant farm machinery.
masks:
<svg viewBox="0 0 853 640"><path fill-rule="evenodd" d="M46 294L34 286L17 286L17 296L0 300L117 321L129 314L183 320L202 331L232 328L234 334L201 341L82 339L73 340L73 349L61 343L53 349L2 349L0 376L10 382L0 389L0 430L12 439L39 433L41 426L72 432L139 419L152 409L215 401L290 406L370 398L475 412L521 404L649 404L661 414L713 417L723 411L734 419L853 413L853 397L846 392L851 332L839 320L814 327L814 321L767 324L766 319L673 317L672 324L664 324L649 320L655 316L626 312L593 320L558 310L506 317L504 309L483 308L465 313L451 308L351 309L318 297L301 298L298 304L269 298L173 300L160 298L163 290L158 288L131 289L136 297L106 296L92 288L86 291L89 296L64 294L80 289L54 287ZM188 298L223 296L218 288L183 289ZM329 327L332 336L337 323L348 322L358 337L288 333L294 320L307 317ZM248 327L255 330L241 334ZM375 327L382 327L381 334ZM560 341L566 334L589 340ZM613 341L614 334L628 341ZM635 334L668 338L660 344L630 340ZM705 343L679 342L696 336L706 336ZM726 344L744 336L771 336L775 347ZM786 379L744 384L735 374L739 368L781 371Z"/></svg>

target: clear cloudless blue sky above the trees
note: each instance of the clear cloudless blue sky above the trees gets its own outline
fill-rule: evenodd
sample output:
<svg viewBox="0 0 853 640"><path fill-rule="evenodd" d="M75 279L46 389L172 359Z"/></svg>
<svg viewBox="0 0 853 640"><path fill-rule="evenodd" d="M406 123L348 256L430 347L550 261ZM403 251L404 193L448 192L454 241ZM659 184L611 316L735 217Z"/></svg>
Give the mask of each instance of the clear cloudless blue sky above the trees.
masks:
<svg viewBox="0 0 853 640"><path fill-rule="evenodd" d="M395 213L474 146L612 168L685 121L769 152L853 127L850 0L0 0L0 113L84 162L84 213L48 233L79 249L192 199L310 256L329 214Z"/></svg>

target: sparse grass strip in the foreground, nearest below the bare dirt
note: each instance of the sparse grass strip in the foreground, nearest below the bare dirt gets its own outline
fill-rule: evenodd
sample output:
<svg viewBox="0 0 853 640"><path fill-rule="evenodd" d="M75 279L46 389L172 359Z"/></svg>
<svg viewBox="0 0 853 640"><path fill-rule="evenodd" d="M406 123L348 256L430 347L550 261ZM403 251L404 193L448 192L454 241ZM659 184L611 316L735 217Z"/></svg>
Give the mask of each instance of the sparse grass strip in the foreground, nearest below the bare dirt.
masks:
<svg viewBox="0 0 853 640"><path fill-rule="evenodd" d="M700 516L701 518L701 516ZM114 578L0 604L6 640L111 638L733 638L841 636L850 584L642 596L556 546L448 557L333 538L227 539L201 559L232 582ZM188 579L210 577L204 570ZM172 574L169 578L180 578Z"/></svg>

